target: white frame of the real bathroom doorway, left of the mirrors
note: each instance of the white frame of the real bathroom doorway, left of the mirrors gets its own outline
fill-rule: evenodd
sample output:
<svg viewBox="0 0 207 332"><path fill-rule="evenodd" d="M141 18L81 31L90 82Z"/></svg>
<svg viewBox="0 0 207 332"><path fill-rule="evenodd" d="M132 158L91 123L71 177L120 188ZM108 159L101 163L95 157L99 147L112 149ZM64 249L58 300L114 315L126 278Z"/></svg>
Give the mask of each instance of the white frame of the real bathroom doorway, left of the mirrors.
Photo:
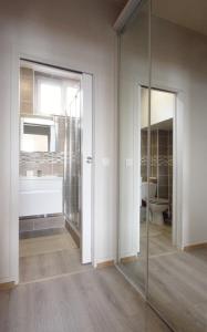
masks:
<svg viewBox="0 0 207 332"><path fill-rule="evenodd" d="M10 276L9 281L13 280L15 284L19 283L19 87L20 87L20 61L27 59L37 63L51 65L56 69L62 69L72 72L84 74L84 71L72 69L65 65L65 62L52 61L42 59L33 54L25 54L19 50L12 50L11 63L11 163L10 163ZM92 80L94 75L91 73ZM92 84L92 97L94 87ZM94 156L94 102L92 98L92 151ZM94 160L95 158L93 158ZM94 266L94 162L92 165L92 212L91 212L91 259Z"/></svg>

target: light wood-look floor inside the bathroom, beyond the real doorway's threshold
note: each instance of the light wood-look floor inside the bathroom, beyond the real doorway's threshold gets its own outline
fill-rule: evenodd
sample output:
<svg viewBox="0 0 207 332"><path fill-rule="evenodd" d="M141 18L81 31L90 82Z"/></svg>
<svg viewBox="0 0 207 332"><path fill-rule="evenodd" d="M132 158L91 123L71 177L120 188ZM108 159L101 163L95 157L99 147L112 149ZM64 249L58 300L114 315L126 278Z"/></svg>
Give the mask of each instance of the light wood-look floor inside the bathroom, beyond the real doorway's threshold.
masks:
<svg viewBox="0 0 207 332"><path fill-rule="evenodd" d="M20 240L20 283L91 269L68 230Z"/></svg>

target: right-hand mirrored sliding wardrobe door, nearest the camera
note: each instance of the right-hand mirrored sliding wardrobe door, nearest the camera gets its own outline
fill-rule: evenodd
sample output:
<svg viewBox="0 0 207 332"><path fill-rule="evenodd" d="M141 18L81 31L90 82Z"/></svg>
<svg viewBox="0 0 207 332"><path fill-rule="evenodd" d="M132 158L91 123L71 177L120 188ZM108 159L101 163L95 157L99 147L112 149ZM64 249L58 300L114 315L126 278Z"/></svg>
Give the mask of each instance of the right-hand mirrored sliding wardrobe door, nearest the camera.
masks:
<svg viewBox="0 0 207 332"><path fill-rule="evenodd" d="M152 10L147 299L175 331L204 332L207 7L152 0Z"/></svg>

